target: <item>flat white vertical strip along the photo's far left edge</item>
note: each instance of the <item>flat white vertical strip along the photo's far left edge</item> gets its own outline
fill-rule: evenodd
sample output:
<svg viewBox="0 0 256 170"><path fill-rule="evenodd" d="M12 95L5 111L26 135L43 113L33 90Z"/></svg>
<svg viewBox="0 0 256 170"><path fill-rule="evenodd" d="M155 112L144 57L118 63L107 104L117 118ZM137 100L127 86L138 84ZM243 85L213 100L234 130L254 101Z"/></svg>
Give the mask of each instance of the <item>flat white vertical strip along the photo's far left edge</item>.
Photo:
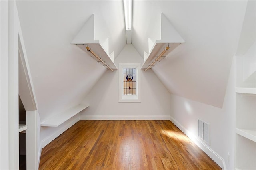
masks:
<svg viewBox="0 0 256 170"><path fill-rule="evenodd" d="M8 1L0 1L0 169L9 167L8 127Z"/></svg>

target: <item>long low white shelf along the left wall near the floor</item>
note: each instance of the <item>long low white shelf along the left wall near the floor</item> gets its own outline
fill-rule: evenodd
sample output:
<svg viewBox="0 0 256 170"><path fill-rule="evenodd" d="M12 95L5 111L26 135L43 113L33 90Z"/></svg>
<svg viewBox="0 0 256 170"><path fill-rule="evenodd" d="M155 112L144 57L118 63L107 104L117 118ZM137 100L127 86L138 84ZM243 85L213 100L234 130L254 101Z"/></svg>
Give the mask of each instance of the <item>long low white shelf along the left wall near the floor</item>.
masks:
<svg viewBox="0 0 256 170"><path fill-rule="evenodd" d="M86 109L89 105L77 105L72 107L46 121L41 122L41 126L44 127L58 127L60 124L64 123L80 111Z"/></svg>

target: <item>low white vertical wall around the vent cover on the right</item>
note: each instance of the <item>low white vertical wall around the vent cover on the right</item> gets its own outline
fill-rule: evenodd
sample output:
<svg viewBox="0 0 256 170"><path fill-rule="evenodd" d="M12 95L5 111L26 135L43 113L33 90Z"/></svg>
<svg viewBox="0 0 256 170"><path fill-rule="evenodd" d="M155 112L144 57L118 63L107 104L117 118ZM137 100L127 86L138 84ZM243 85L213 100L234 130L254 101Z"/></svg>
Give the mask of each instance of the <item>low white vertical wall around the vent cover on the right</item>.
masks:
<svg viewBox="0 0 256 170"><path fill-rule="evenodd" d="M219 155L222 153L222 109L176 95L171 95L171 121L183 126L190 138L198 144L198 119L210 124L210 146ZM199 140L200 141L200 140ZM200 143L199 143L200 144ZM205 144L207 145L207 144ZM204 150L204 152L206 152ZM206 152L207 153L207 152ZM213 159L213 158L212 158ZM214 159L213 159L214 160ZM216 163L217 160L214 160ZM220 161L221 162L221 161Z"/></svg>

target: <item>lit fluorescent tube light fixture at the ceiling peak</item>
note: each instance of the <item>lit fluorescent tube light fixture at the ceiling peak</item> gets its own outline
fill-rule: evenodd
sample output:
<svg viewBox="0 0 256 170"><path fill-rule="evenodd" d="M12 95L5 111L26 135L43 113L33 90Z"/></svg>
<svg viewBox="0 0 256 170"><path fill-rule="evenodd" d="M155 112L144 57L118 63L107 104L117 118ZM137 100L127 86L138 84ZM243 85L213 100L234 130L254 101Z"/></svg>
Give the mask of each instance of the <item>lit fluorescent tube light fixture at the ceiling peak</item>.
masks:
<svg viewBox="0 0 256 170"><path fill-rule="evenodd" d="M132 0L124 0L124 21L126 30L132 30Z"/></svg>

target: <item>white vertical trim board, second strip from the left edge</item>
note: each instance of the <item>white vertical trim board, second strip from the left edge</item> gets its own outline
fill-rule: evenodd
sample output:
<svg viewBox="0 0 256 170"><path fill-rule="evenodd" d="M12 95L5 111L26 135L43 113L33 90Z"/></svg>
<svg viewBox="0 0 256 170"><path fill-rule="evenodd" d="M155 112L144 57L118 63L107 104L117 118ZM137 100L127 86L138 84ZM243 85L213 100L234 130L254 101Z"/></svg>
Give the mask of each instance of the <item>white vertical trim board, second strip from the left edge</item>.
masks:
<svg viewBox="0 0 256 170"><path fill-rule="evenodd" d="M19 105L18 105L18 11L14 1L8 1L8 130L9 130L9 169L19 168Z"/></svg>

